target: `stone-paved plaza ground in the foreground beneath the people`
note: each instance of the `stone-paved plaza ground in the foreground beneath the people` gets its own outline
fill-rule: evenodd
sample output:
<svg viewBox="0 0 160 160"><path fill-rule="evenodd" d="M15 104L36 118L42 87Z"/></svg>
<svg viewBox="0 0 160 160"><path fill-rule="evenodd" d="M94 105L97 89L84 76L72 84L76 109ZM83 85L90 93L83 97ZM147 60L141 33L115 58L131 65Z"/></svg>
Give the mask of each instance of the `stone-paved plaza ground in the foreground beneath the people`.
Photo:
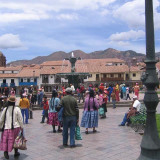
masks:
<svg viewBox="0 0 160 160"><path fill-rule="evenodd" d="M158 106L160 111L160 105ZM25 125L28 140L26 151L20 151L19 160L136 160L140 154L142 136L130 127L119 127L127 108L109 108L106 119L99 119L97 133L85 134L81 128L83 140L76 141L76 148L62 146L62 134L53 133L52 127L41 124L42 111L34 111L34 119ZM82 109L80 110L80 120ZM13 160L13 151L10 159ZM0 152L0 160L4 160Z"/></svg>

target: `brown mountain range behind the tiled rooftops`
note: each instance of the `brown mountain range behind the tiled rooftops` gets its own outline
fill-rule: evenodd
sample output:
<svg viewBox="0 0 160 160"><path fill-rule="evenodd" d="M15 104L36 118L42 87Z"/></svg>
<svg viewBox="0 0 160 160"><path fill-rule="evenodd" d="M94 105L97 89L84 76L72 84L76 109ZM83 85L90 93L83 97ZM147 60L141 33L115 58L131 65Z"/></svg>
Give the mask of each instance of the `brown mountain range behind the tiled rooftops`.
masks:
<svg viewBox="0 0 160 160"><path fill-rule="evenodd" d="M137 59L137 62L143 61L145 55L142 53L137 53L132 50L119 51L113 48L108 48L106 50L95 51L91 53L85 53L81 50L74 50L69 53L58 51L54 52L48 56L38 56L31 60L17 60L7 64L7 66L17 66L17 65L30 65L30 64L41 64L45 61L59 61L65 58L69 58L71 53L74 53L75 57L80 57L82 59L104 59L104 58L119 58L126 62L130 62L133 58ZM156 57L160 56L160 52L156 53Z"/></svg>

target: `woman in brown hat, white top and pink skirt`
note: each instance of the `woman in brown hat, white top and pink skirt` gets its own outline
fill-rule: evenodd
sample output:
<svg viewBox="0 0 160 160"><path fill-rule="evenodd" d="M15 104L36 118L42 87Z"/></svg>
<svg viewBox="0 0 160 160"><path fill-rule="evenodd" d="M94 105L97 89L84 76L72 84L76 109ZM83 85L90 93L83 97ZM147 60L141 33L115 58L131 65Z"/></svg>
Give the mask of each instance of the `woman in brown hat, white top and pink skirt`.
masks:
<svg viewBox="0 0 160 160"><path fill-rule="evenodd" d="M13 145L20 130L23 129L23 119L21 110L15 106L15 97L11 96L8 99L8 106L3 109L0 117L0 128L2 130L0 150L4 151L4 157L9 159L8 152L13 150ZM18 149L14 149L14 156L20 155Z"/></svg>

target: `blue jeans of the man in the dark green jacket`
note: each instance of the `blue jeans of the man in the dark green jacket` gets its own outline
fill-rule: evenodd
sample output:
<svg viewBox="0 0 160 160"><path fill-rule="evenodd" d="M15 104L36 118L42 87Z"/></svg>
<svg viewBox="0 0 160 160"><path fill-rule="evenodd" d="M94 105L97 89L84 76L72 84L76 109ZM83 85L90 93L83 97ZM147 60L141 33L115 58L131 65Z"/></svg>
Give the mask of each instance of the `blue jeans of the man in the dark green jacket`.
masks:
<svg viewBox="0 0 160 160"><path fill-rule="evenodd" d="M70 146L75 145L76 116L67 116L63 118L63 145L68 143L68 129L70 128Z"/></svg>

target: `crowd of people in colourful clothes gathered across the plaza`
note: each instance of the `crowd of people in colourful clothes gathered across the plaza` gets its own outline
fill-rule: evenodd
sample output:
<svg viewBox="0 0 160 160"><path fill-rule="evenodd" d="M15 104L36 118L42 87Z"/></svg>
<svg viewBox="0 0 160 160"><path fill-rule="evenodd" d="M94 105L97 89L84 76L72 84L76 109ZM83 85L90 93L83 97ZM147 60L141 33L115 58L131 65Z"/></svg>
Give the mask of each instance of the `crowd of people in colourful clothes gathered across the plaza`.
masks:
<svg viewBox="0 0 160 160"><path fill-rule="evenodd" d="M36 92L33 86L31 86L30 91L24 89L21 92L19 106L16 107L15 93L11 89L9 98L5 97L3 99L4 109L0 117L0 129L2 131L0 150L4 151L5 158L9 159L8 152L12 151L15 138L20 130L23 131L23 124L28 124L31 103L43 108L40 123L45 123L46 119L46 123L52 126L53 133L61 133L63 131L64 147L68 146L68 130L70 129L70 147L73 148L76 146L75 128L77 125L84 127L86 134L90 132L89 129L92 129L93 133L97 132L99 117L106 118L107 102L112 100L113 108L115 109L116 102L120 101L120 98L124 100L131 99L129 96L130 92L128 85L119 85L118 83L116 85L110 84L109 86L101 83L99 86L89 85L88 88L81 84L76 90L71 84L67 88L63 86L60 91L54 89L49 100L43 88ZM27 93L30 93L29 96ZM125 114L120 126L124 126L126 122L129 123L130 116L135 115L139 111L139 86L137 83L134 87L134 93L133 105ZM75 94L78 96L78 99L75 98ZM80 121L78 102L81 103L81 100L84 102L84 109ZM58 127L57 130L56 127ZM15 149L14 156L17 157L19 155L18 149Z"/></svg>

